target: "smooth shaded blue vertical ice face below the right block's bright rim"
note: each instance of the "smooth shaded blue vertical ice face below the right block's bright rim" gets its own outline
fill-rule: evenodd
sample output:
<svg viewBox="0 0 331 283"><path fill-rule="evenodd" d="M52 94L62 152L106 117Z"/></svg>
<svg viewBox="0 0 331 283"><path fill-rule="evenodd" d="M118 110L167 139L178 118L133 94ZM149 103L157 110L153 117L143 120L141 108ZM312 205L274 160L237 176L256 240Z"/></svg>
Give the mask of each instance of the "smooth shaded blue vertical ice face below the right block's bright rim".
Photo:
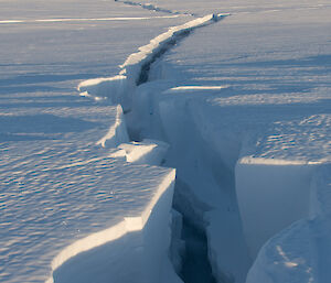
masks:
<svg viewBox="0 0 331 283"><path fill-rule="evenodd" d="M249 254L309 213L313 165L264 159L236 164L236 194Z"/></svg>

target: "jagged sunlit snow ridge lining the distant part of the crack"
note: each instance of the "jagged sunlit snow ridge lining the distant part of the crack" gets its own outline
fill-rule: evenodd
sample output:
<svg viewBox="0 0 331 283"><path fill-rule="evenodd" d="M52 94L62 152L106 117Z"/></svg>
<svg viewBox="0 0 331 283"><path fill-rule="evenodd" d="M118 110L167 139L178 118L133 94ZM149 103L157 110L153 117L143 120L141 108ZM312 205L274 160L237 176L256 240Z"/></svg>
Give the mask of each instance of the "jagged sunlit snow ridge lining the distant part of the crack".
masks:
<svg viewBox="0 0 331 283"><path fill-rule="evenodd" d="M228 14L221 13L209 14L170 28L167 32L152 39L149 44L139 47L137 53L131 54L126 62L120 65L120 75L82 81L77 87L78 91L84 96L95 97L96 100L99 100L100 97L108 96L113 104L120 104L124 111L128 111L131 108L130 101L132 92L129 88L135 88L148 80L150 65L157 58L174 46L180 40L188 36L193 30L218 22L227 15ZM111 91L109 91L109 89L111 89Z"/></svg>

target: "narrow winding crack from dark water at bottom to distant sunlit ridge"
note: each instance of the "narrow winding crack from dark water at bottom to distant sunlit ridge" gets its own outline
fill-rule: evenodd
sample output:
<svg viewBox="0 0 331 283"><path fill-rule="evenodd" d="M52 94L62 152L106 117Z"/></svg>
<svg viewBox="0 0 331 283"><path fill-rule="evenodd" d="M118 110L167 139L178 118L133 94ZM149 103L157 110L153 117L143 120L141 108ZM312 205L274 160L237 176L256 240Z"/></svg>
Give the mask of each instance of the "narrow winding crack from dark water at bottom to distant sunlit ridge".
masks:
<svg viewBox="0 0 331 283"><path fill-rule="evenodd" d="M148 87L148 84L151 83L151 80L154 79L162 79L159 77L158 70L154 72L154 63L159 63L162 61L162 56L170 51L172 47L177 46L177 44L182 41L183 39L188 37L190 34L192 34L193 31L196 29L214 24L227 14L207 14L205 17L191 20L184 24L178 25L178 26L171 26L167 32L156 36L150 41L149 44L141 46L137 53L131 54L126 62L120 65L121 72L120 76L115 76L111 78L103 78L100 80L90 80L87 83L84 83L78 86L78 89L82 91L96 91L95 97L99 97L103 94L103 88L94 88L98 83L104 81L104 87L107 88L114 87L111 90L108 89L108 95L113 95L113 104L121 104L124 113L126 117L126 124L127 124L127 131L129 133L129 138L131 141L143 141L145 139L152 139L152 140L160 140L169 143L170 148L172 150L169 151L169 154L164 156L164 163L163 165L174 167L179 170L179 175L183 177L184 179L190 178L190 176L184 176L182 172L183 166L189 168L189 172L194 172L194 164L191 164L191 162L185 161L185 164L180 164L181 162L181 153L179 150L179 144L182 143L179 137L177 137L175 141L167 141L166 137L160 137L157 132L154 132L154 129L146 129L146 131L141 131L139 128L135 128L137 126L137 119L141 119L141 126L147 123L156 123L158 124L160 121L158 120L157 116L148 116L143 117L140 116L139 109L140 107L145 107L141 104L145 104L143 98L141 98L141 101L138 101L140 99L139 96L139 89L142 89L146 85ZM98 89L102 91L102 94L98 94ZM118 91L118 92L116 92ZM110 92L110 94L109 94ZM156 94L157 95L157 94ZM136 97L135 97L136 96ZM153 99L150 97L150 99ZM145 121L143 121L145 120ZM166 122L167 123L167 122ZM143 127L143 126L142 126ZM158 128L162 128L161 124L157 126ZM195 135L195 133L192 133ZM192 137L194 139L194 137ZM175 157L171 157L170 152L173 154L173 149L178 152L175 152ZM195 156L199 159L199 156ZM168 160L170 163L168 163ZM197 160L196 160L197 161ZM192 170L191 170L192 168ZM185 170L184 170L185 171ZM190 173L189 173L190 174ZM202 177L203 178L203 177ZM201 179L199 183L209 183L205 182L205 179ZM175 191L179 189L181 184L175 185ZM194 188L195 189L195 188ZM180 189L179 189L180 191ZM191 198L191 189L188 192L188 197ZM193 194L193 193L192 193ZM177 195L174 193L174 195ZM175 198L175 196L174 196ZM179 202L178 204L180 204ZM185 200L183 202L183 206L185 206ZM190 203L190 200L189 200ZM188 215L185 211L185 208L181 209L178 207L178 204L174 207L175 210L180 211L183 215L183 229L182 229L182 239L185 243L185 252L182 252L182 268L178 271L178 274L182 277L182 280L185 283L195 283L195 282L205 282L205 283L214 283L216 282L215 277L213 276L213 262L210 260L210 247L209 247L209 239L206 237L206 228L207 225L203 220L204 213L207 211L207 209L201 210L200 208L195 207L195 203L190 203L190 206L192 210L196 210L193 213L196 218L200 218L199 221L201 225L196 225L199 221L192 217L192 215ZM196 204L199 206L199 204ZM206 205L203 205L206 206ZM179 209L177 209L179 208ZM220 281L220 280L218 280Z"/></svg>

